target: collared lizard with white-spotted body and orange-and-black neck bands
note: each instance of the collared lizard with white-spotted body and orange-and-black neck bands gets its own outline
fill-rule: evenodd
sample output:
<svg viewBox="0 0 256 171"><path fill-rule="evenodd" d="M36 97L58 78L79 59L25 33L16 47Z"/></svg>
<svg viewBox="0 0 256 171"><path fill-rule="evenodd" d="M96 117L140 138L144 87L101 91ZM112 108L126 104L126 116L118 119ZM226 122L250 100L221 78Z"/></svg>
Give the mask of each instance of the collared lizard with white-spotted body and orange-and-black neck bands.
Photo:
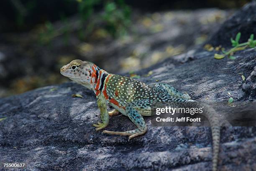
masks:
<svg viewBox="0 0 256 171"><path fill-rule="evenodd" d="M138 128L123 132L105 130L103 133L127 135L129 140L146 133L147 126L142 116L151 116L151 105L154 102L169 102L174 107L178 102L192 102L189 103L190 106L184 103L184 107L197 107L196 101L191 100L188 94L181 93L168 84L156 84L155 87L151 87L136 79L110 74L92 62L76 59L61 67L60 72L65 77L95 92L102 121L93 124L93 126L97 127L96 131L108 126L109 116L120 112L128 116ZM110 104L115 109L108 112L107 104ZM211 110L206 111L206 117L210 121L212 129L212 170L216 171L220 127L218 126L218 119L213 113Z"/></svg>

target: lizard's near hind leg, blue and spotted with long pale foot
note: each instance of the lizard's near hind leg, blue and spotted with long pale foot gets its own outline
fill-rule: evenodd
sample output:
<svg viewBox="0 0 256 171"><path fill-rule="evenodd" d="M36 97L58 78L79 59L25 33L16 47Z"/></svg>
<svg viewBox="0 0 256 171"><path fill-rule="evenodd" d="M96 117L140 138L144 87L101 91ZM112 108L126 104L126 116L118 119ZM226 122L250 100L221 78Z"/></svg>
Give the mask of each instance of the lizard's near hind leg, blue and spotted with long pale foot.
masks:
<svg viewBox="0 0 256 171"><path fill-rule="evenodd" d="M145 101L147 101L147 100L148 99L145 99ZM123 132L103 131L103 133L114 134L114 135L124 135L124 136L129 135L129 140L136 137L136 136L145 134L146 131L147 131L147 126L146 126L146 123L145 123L143 117L138 112L137 105L138 105L138 103L136 101L131 102L130 104L128 104L126 106L126 114L129 117L129 119L131 119L133 124L135 124L138 127L138 129L134 129L134 130L131 130L131 131L123 131Z"/></svg>

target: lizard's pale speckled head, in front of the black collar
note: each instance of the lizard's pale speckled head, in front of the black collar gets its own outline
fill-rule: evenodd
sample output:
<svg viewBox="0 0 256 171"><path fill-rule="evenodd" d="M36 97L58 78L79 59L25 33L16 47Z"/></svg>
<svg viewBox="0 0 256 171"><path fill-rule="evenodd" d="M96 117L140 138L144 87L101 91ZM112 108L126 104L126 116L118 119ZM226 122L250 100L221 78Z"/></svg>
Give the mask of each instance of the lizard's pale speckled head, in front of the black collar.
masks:
<svg viewBox="0 0 256 171"><path fill-rule="evenodd" d="M96 72L99 70L100 68L92 62L76 59L61 67L60 73L84 87L93 89Z"/></svg>

